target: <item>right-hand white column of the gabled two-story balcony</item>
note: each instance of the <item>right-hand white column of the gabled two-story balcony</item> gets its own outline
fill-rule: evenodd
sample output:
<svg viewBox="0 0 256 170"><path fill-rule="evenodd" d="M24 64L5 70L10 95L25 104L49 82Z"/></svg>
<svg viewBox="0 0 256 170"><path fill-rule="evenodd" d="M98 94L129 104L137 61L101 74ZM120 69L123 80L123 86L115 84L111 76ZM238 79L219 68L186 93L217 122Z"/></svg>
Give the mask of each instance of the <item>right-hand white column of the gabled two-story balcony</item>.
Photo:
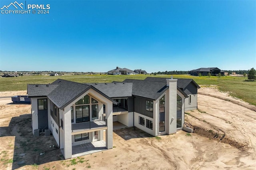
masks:
<svg viewBox="0 0 256 170"><path fill-rule="evenodd" d="M106 103L106 121L108 128L106 129L106 148L113 148L113 103Z"/></svg>

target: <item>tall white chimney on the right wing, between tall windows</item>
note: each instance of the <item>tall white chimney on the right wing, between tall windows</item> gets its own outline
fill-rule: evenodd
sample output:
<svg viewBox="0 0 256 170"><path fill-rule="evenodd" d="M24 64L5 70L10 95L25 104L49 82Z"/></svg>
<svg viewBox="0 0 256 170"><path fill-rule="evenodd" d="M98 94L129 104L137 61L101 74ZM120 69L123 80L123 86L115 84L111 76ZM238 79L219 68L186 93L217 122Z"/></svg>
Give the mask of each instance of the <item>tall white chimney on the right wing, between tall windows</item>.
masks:
<svg viewBox="0 0 256 170"><path fill-rule="evenodd" d="M169 86L168 92L168 100L167 103L167 114L168 114L168 126L167 126L167 134L176 133L177 128L177 79L166 79L167 86Z"/></svg>

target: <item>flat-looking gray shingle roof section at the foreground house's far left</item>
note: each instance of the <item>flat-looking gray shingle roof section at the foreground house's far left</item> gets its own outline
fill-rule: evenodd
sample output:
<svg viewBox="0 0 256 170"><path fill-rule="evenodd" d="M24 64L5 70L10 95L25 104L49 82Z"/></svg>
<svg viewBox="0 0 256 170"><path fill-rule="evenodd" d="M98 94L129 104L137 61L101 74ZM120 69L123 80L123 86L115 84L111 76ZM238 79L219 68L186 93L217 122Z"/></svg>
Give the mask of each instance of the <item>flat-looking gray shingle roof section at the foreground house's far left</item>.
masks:
<svg viewBox="0 0 256 170"><path fill-rule="evenodd" d="M29 97L39 97L39 96L47 96L51 93L58 85L52 84L40 84L40 85L28 85L28 96Z"/></svg>

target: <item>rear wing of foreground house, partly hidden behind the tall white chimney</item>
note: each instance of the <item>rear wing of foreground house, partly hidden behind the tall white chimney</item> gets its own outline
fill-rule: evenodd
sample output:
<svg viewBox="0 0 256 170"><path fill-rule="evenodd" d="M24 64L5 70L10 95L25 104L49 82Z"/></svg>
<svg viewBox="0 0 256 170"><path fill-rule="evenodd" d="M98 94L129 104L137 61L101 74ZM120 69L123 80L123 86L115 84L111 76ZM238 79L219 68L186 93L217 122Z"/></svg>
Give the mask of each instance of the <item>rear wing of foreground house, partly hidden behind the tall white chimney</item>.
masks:
<svg viewBox="0 0 256 170"><path fill-rule="evenodd" d="M160 81L165 82L165 78L161 77L147 77L147 81ZM185 111L197 109L197 89L200 86L193 79L177 79L177 87L181 89L188 98L185 99Z"/></svg>

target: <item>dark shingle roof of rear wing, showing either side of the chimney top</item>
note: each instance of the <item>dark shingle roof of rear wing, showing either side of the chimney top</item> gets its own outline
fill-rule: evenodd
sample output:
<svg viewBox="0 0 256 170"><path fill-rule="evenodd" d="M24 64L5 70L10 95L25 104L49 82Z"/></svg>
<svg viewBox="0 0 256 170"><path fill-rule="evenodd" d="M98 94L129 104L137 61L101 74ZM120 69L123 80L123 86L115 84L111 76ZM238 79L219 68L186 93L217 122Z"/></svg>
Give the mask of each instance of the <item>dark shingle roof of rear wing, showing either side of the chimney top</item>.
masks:
<svg viewBox="0 0 256 170"><path fill-rule="evenodd" d="M162 78L162 77L147 77L145 80L147 81L161 81L161 82L166 82L166 78ZM194 83L194 85L196 85L196 87L199 89L200 86L193 80L193 79L178 79L177 80L177 86L179 88L186 88L186 86L189 83Z"/></svg>

